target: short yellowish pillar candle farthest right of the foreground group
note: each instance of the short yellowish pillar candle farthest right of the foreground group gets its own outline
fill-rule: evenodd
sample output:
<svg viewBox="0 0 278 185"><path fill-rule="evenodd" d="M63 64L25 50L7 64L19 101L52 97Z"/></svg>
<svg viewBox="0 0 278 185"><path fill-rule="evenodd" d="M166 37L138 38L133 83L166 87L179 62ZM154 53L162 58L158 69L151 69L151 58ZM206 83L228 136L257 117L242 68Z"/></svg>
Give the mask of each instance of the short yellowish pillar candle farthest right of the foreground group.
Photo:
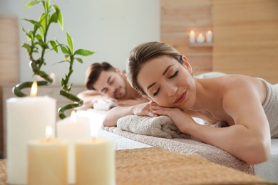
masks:
<svg viewBox="0 0 278 185"><path fill-rule="evenodd" d="M115 149L110 139L76 142L76 184L115 184Z"/></svg>

